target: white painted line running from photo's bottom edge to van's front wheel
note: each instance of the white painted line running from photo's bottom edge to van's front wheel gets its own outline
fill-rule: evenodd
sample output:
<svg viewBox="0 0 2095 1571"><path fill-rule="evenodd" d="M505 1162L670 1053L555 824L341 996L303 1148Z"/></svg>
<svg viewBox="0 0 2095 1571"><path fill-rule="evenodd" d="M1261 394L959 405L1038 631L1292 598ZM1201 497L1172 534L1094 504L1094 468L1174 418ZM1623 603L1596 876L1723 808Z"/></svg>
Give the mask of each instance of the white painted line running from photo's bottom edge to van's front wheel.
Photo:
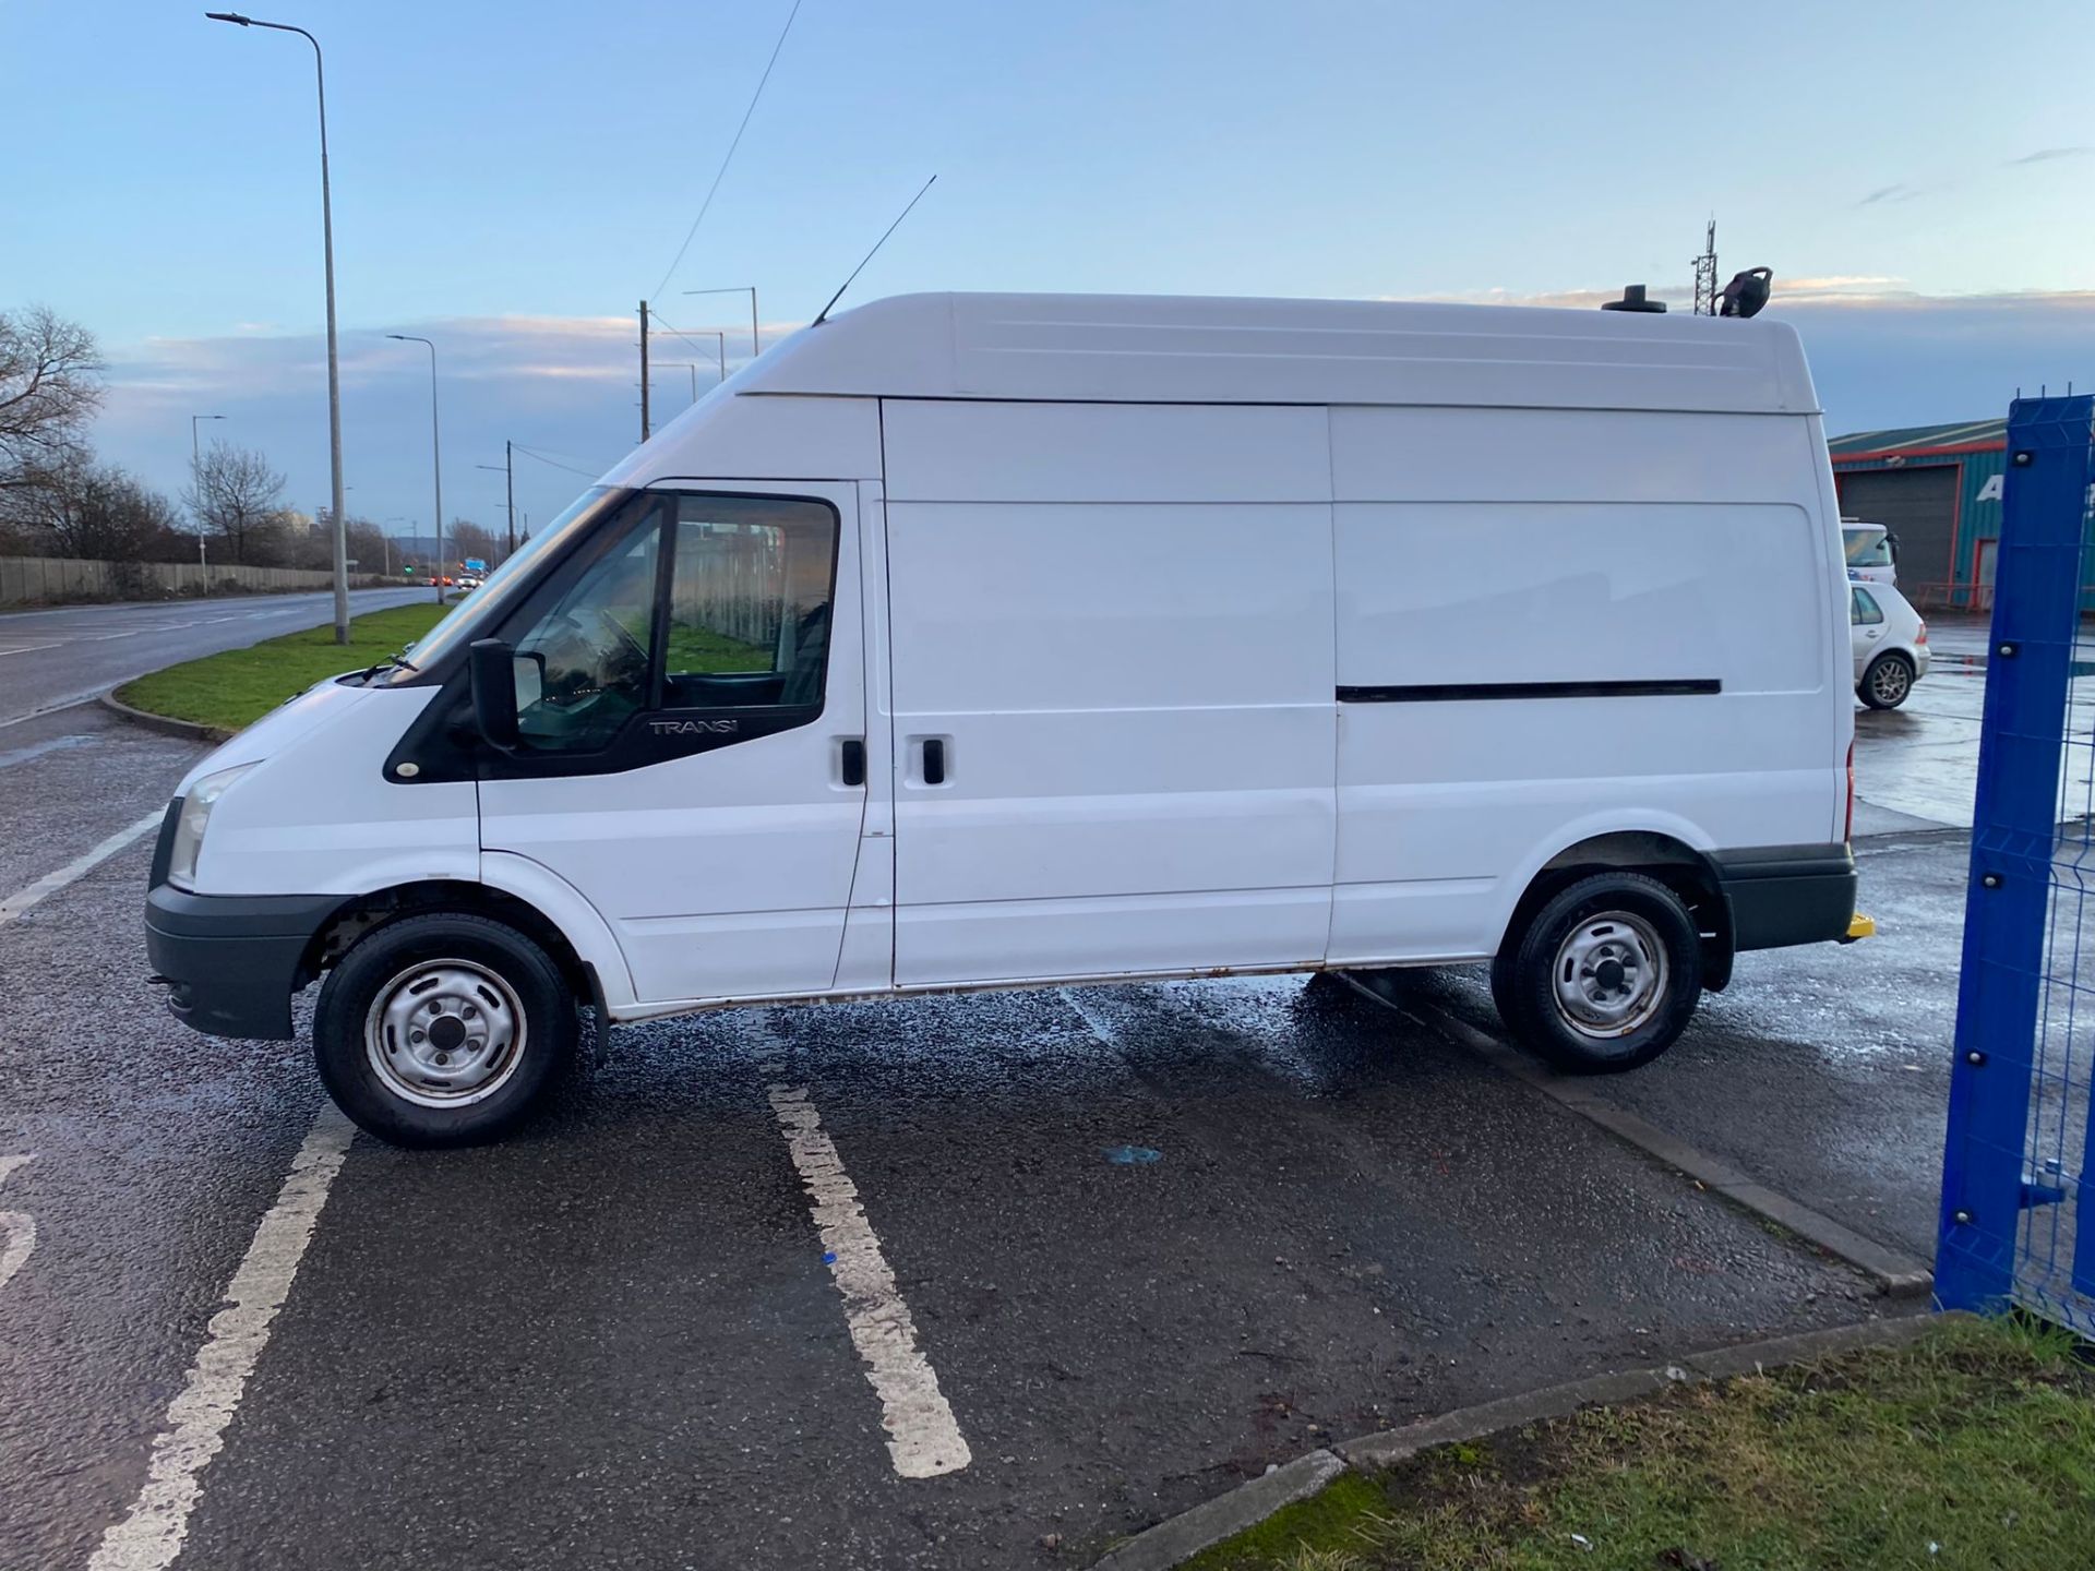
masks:
<svg viewBox="0 0 2095 1571"><path fill-rule="evenodd" d="M203 1468L226 1441L226 1424L268 1345L270 1322L291 1292L291 1278L312 1242L352 1133L354 1127L333 1104L312 1121L277 1204L262 1217L247 1257L226 1286L226 1307L212 1315L212 1332L168 1403L166 1426L153 1437L145 1487L130 1514L103 1533L88 1571L166 1571L182 1552Z"/></svg>

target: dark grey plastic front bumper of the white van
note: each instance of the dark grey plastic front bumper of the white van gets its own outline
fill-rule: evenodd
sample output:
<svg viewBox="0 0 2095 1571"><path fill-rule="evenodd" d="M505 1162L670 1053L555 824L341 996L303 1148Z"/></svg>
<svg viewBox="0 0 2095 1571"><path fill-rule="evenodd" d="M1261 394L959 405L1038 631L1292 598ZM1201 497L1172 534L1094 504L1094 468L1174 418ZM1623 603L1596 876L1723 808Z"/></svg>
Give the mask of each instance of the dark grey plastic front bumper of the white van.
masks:
<svg viewBox="0 0 2095 1571"><path fill-rule="evenodd" d="M155 884L145 897L145 953L166 980L174 1018L207 1037L287 1041L291 995L312 934L339 894L191 894Z"/></svg>

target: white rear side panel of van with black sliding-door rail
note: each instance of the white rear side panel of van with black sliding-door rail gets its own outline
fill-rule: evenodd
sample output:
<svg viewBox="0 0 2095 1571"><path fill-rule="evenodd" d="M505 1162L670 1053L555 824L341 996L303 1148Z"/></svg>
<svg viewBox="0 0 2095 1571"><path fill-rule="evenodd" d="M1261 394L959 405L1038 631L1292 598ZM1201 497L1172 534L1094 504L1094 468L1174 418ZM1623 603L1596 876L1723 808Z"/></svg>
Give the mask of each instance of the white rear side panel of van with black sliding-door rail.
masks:
<svg viewBox="0 0 2095 1571"><path fill-rule="evenodd" d="M1332 411L1332 961L1487 955L1598 834L1827 840L1848 691L1804 419Z"/></svg>

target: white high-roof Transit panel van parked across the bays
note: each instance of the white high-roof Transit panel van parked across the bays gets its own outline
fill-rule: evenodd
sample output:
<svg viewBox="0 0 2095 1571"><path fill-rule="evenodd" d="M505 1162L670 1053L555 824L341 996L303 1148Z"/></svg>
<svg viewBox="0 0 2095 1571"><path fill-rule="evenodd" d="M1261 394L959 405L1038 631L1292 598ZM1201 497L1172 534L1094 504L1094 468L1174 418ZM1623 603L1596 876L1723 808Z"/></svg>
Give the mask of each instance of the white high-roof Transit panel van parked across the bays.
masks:
<svg viewBox="0 0 2095 1571"><path fill-rule="evenodd" d="M1846 607L1781 323L884 300L197 765L151 959L425 1146L582 1005L1490 961L1630 1068L1850 934Z"/></svg>

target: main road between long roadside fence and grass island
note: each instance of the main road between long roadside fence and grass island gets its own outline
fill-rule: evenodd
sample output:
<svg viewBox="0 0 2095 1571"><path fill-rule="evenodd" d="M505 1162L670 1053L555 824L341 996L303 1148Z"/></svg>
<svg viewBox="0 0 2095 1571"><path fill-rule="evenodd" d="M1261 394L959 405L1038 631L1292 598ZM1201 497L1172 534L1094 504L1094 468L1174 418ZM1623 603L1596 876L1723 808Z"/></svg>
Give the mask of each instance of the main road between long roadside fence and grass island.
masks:
<svg viewBox="0 0 2095 1571"><path fill-rule="evenodd" d="M427 597L427 589L358 589L350 614ZM323 591L0 612L0 727L178 660L318 626L333 618L333 603Z"/></svg>

